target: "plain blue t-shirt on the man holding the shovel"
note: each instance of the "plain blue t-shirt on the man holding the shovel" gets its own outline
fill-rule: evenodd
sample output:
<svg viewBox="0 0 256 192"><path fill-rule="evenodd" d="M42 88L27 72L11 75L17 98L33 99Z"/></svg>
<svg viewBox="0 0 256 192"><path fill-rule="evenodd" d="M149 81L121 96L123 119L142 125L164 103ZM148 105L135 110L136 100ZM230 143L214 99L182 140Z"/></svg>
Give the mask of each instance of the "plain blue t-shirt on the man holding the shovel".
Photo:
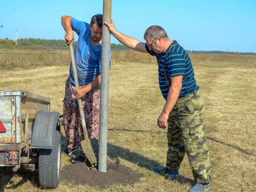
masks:
<svg viewBox="0 0 256 192"><path fill-rule="evenodd" d="M91 30L88 23L72 18L72 29L78 35L74 51L78 82L79 85L88 85L101 74L102 44L91 44ZM72 65L69 73L71 82L75 84Z"/></svg>

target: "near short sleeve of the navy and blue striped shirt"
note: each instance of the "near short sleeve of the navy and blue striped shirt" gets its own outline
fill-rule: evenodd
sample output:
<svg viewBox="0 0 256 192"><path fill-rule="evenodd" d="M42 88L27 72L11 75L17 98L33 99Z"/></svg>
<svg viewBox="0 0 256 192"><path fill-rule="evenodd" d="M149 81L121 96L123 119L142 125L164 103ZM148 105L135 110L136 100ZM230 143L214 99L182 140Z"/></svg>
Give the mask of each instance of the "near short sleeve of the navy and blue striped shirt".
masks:
<svg viewBox="0 0 256 192"><path fill-rule="evenodd" d="M171 55L166 58L166 64L168 66L169 77L185 74L185 59L183 55L180 54L180 51L171 52Z"/></svg>

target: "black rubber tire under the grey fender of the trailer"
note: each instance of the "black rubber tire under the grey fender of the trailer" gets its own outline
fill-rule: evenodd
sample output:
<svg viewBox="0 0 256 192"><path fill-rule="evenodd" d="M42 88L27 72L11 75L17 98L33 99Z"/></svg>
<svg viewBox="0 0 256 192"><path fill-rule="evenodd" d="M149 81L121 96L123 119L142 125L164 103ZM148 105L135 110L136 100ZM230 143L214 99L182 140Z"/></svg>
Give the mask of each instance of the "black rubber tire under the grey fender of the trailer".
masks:
<svg viewBox="0 0 256 192"><path fill-rule="evenodd" d="M56 188L60 183L62 141L60 132L55 131L54 148L39 149L39 185L43 188Z"/></svg>

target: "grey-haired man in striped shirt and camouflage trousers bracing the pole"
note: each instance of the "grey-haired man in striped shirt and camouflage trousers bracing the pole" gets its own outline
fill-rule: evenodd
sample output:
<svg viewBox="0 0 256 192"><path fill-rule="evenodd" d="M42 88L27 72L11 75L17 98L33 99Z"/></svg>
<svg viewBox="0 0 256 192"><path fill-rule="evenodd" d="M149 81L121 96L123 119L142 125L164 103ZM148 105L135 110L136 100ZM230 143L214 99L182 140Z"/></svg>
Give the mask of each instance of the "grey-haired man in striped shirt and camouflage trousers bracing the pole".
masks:
<svg viewBox="0 0 256 192"><path fill-rule="evenodd" d="M166 176L179 176L180 163L187 153L196 182L189 191L208 190L210 160L204 135L204 102L194 79L190 56L177 41L170 40L160 26L149 27L144 34L146 43L142 43L118 32L113 21L105 25L127 47L157 57L160 90L166 100L157 124L165 129L168 123L169 149L166 167L153 171Z"/></svg>

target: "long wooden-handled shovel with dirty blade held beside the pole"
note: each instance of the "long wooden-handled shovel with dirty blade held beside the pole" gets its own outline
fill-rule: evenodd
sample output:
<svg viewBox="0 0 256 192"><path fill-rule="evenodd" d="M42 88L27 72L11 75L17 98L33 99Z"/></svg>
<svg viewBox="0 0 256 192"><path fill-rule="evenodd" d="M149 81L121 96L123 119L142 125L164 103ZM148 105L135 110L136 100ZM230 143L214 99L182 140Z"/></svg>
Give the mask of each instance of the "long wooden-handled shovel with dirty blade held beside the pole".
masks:
<svg viewBox="0 0 256 192"><path fill-rule="evenodd" d="M69 44L69 51L70 51L70 55L71 55L71 63L72 63L72 68L73 68L76 90L78 90L79 84L78 84L78 79L77 79L76 62L74 59L74 50L73 50L72 43ZM82 141L80 140L80 144L81 144L83 151L85 152L86 157L90 161L91 166L96 168L97 167L97 158L94 154L93 148L91 146L91 142L88 138L87 128L86 128L86 124L85 124L85 116L84 116L84 111L83 111L83 107L82 107L82 100L77 99L77 102L78 102L78 106L79 106L80 117L82 120L82 129L84 130L84 138L85 138ZM78 130L79 130L79 135L80 135L81 134L80 129L78 129Z"/></svg>

